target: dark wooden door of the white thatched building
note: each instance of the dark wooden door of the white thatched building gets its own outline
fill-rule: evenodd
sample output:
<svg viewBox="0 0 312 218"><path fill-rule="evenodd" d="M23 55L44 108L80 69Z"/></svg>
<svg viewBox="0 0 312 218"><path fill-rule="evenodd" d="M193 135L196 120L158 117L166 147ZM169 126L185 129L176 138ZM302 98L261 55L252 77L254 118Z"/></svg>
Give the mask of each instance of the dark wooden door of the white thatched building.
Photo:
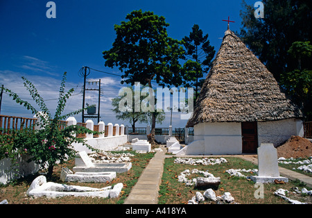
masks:
<svg viewBox="0 0 312 218"><path fill-rule="evenodd" d="M241 135L243 141L243 153L257 153L257 122L242 122Z"/></svg>

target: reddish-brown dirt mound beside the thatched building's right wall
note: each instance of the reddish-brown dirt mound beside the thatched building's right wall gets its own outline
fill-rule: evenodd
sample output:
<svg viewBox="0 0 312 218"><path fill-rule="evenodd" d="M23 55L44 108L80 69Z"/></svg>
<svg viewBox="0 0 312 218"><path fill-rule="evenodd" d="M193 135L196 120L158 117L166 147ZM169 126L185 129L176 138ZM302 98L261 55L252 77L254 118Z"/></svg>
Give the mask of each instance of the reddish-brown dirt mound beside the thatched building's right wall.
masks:
<svg viewBox="0 0 312 218"><path fill-rule="evenodd" d="M279 158L310 157L312 156L312 142L303 137L291 136L285 144L277 147L277 156Z"/></svg>

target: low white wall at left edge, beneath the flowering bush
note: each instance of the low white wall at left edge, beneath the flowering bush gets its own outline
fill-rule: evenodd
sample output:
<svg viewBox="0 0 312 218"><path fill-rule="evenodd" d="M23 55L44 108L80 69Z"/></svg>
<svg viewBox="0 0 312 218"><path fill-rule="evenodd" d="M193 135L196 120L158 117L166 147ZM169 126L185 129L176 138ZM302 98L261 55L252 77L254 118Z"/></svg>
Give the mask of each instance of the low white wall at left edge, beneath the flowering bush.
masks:
<svg viewBox="0 0 312 218"><path fill-rule="evenodd" d="M39 170L39 165L35 162L26 162L27 156L19 156L17 158L17 165L12 167L11 160L4 158L0 160L0 183L6 184L21 176L35 174Z"/></svg>

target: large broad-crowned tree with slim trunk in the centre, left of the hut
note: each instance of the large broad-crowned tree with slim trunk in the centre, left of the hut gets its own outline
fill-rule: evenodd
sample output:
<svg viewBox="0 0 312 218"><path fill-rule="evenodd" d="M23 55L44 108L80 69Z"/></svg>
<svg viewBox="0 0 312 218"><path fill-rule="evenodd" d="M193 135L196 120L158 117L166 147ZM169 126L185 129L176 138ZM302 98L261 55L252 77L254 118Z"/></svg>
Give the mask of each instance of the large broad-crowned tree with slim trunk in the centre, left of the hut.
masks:
<svg viewBox="0 0 312 218"><path fill-rule="evenodd" d="M153 88L159 85L178 86L182 84L180 58L184 58L182 42L168 37L169 26L165 18L153 12L135 10L115 25L116 39L112 49L103 51L106 67L119 67L123 72L121 84L134 85L139 82ZM156 116L152 114L152 143L155 142Z"/></svg>

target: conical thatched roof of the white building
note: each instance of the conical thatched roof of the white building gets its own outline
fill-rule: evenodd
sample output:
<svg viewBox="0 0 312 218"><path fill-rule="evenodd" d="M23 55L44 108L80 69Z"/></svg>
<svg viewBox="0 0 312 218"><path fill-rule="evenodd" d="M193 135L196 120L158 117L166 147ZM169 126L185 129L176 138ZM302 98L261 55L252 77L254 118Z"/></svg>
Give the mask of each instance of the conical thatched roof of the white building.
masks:
<svg viewBox="0 0 312 218"><path fill-rule="evenodd" d="M266 66L229 29L187 127L202 122L274 121L302 117Z"/></svg>

